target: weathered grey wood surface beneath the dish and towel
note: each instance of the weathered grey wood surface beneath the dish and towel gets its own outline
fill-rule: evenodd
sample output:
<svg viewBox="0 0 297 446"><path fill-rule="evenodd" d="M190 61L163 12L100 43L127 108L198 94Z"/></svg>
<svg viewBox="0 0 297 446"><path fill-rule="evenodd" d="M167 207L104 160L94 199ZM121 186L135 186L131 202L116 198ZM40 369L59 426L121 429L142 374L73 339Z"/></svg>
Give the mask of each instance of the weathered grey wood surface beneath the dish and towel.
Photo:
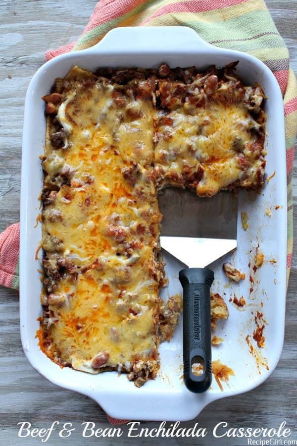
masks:
<svg viewBox="0 0 297 446"><path fill-rule="evenodd" d="M83 31L96 1L23 0L0 1L0 230L19 219L21 137L24 97L28 83L44 63L48 48L69 43ZM297 72L297 1L267 0L276 26L290 51ZM10 78L11 77L11 78ZM294 165L294 204L297 200L297 161ZM295 206L294 215L296 215ZM297 227L295 227L297 237ZM195 422L209 431L219 421L230 427L278 427L286 420L297 439L297 250L294 249L287 296L286 334L281 360L271 377L258 389L244 395L215 401ZM35 427L49 427L52 421L74 423L76 432L68 439L52 436L48 445L81 444L80 423L94 421L109 427L104 412L91 399L62 390L35 372L24 356L19 334L18 292L0 287L0 437L1 444L41 444L40 439L17 439L17 423L29 421ZM155 427L159 423L142 423ZM213 439L128 439L123 427L120 439L88 439L89 445L247 445L247 440ZM87 441L87 440L85 440Z"/></svg>

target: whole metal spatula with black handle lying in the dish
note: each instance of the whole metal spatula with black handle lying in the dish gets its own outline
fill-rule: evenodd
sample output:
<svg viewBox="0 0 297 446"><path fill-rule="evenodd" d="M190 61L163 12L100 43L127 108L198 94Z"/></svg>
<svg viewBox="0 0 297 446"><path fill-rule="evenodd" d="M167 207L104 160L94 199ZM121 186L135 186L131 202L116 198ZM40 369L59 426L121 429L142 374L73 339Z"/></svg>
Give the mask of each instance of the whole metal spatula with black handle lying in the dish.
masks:
<svg viewBox="0 0 297 446"><path fill-rule="evenodd" d="M212 198L199 198L189 190L168 188L158 201L163 214L161 247L189 267L179 273L184 382L192 392L201 393L212 379L210 286L214 274L204 267L237 247L237 197L219 192Z"/></svg>

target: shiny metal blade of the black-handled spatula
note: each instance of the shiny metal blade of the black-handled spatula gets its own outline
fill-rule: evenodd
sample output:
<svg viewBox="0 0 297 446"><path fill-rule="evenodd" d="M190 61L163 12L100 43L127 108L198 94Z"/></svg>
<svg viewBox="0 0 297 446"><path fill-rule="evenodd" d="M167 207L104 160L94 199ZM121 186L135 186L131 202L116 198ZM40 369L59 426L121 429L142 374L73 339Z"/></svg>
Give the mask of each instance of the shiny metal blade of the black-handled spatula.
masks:
<svg viewBox="0 0 297 446"><path fill-rule="evenodd" d="M190 268L205 267L237 247L238 199L233 193L199 198L189 190L168 188L158 201L161 247Z"/></svg>

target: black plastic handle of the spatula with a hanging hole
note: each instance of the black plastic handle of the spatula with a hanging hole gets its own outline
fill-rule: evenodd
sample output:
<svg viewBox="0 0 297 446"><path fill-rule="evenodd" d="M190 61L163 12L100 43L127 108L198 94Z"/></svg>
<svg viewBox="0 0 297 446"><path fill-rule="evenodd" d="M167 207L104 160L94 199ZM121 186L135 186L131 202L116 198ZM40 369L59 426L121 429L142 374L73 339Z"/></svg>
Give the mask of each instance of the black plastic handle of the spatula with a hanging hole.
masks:
<svg viewBox="0 0 297 446"><path fill-rule="evenodd" d="M214 274L205 268L186 268L179 279L183 287L184 382L191 392L202 393L212 380L210 286ZM201 374L193 373L194 364L203 366Z"/></svg>

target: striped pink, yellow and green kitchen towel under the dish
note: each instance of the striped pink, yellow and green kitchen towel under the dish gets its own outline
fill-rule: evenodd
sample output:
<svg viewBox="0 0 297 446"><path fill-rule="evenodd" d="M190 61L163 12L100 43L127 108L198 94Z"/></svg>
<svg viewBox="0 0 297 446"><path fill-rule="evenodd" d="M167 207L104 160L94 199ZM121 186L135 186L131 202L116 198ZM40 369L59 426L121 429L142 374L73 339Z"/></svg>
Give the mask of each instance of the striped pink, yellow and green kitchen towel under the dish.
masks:
<svg viewBox="0 0 297 446"><path fill-rule="evenodd" d="M190 26L207 42L249 53L274 73L284 97L288 177L287 284L293 250L292 167L297 131L297 86L288 49L263 0L100 0L77 42L46 52L57 55L98 43L116 26ZM19 225L0 235L0 283L18 288ZM121 420L109 418L110 422ZM123 421L125 422L125 421Z"/></svg>

